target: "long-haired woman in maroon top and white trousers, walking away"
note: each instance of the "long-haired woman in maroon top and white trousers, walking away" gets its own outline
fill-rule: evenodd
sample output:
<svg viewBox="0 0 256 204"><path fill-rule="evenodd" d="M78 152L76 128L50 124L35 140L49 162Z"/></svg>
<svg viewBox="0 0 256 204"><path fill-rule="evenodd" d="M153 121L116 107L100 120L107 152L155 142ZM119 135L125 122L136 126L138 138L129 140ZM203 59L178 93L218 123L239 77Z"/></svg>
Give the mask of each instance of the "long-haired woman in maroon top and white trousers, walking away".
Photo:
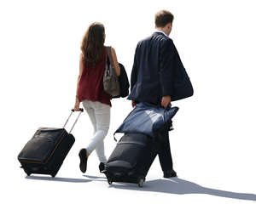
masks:
<svg viewBox="0 0 256 204"><path fill-rule="evenodd" d="M107 158L104 151L104 138L108 133L110 123L111 95L103 88L103 75L108 57L105 42L105 29L101 23L92 23L84 34L79 60L79 78L74 110L79 111L80 102L90 117L94 133L89 144L79 151L80 170L86 172L87 160L93 150L100 160L100 172L104 170ZM111 48L113 66L117 76L120 74L118 60Z"/></svg>

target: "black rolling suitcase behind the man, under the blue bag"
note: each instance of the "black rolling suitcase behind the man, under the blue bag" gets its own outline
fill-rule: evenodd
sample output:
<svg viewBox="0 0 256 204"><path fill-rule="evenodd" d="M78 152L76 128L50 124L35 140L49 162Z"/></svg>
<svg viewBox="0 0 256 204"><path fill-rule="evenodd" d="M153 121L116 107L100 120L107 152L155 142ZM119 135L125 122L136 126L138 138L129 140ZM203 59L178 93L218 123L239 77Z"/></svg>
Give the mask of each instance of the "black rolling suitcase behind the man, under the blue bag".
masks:
<svg viewBox="0 0 256 204"><path fill-rule="evenodd" d="M105 165L108 184L126 182L143 187L156 153L154 140L146 134L126 133Z"/></svg>

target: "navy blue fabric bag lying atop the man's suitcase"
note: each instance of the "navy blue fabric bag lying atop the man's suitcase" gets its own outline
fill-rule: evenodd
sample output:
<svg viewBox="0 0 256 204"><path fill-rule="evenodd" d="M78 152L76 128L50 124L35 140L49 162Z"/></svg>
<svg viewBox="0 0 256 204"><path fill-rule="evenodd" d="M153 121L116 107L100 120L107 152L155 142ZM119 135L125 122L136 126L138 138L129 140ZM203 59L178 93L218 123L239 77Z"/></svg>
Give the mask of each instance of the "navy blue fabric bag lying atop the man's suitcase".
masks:
<svg viewBox="0 0 256 204"><path fill-rule="evenodd" d="M178 107L160 107L141 102L125 118L115 133L143 133L154 138L155 133L166 127L172 127L172 117ZM115 134L113 133L113 134Z"/></svg>

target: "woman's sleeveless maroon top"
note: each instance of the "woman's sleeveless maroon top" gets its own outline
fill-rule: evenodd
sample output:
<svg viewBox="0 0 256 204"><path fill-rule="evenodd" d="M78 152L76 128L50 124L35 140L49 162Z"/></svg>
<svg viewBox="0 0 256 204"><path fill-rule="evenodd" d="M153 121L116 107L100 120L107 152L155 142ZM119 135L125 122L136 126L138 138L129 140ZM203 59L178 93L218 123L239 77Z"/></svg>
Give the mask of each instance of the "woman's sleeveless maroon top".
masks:
<svg viewBox="0 0 256 204"><path fill-rule="evenodd" d="M80 102L84 99L88 99L111 106L111 95L106 93L103 88L105 61L106 54L103 54L102 60L93 67L87 67L84 63L84 71L79 81L78 90L78 98Z"/></svg>

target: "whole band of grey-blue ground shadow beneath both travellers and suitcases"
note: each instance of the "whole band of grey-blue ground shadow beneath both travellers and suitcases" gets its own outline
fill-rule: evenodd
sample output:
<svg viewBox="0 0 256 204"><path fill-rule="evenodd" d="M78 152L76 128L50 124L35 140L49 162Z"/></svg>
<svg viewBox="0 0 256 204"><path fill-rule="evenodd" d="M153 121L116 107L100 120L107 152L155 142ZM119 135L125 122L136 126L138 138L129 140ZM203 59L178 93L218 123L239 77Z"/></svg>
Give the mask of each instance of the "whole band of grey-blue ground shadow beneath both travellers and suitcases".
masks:
<svg viewBox="0 0 256 204"><path fill-rule="evenodd" d="M107 182L105 177L97 177L84 175L86 178L51 178L42 176L26 176L27 179L38 179L47 181L58 181L58 182L71 182L71 183L87 183L91 181L103 181ZM114 183L109 185L109 188L124 189L124 190L140 190L140 191L151 191L159 193L169 193L177 195L185 194L204 194L204 195L215 195L225 198L233 198L247 201L256 201L255 194L236 193L226 190L215 190L207 187L203 187L199 184L183 180L181 178L170 178L170 179L156 179L149 180L143 184L143 188L139 188L137 184L127 183Z"/></svg>

